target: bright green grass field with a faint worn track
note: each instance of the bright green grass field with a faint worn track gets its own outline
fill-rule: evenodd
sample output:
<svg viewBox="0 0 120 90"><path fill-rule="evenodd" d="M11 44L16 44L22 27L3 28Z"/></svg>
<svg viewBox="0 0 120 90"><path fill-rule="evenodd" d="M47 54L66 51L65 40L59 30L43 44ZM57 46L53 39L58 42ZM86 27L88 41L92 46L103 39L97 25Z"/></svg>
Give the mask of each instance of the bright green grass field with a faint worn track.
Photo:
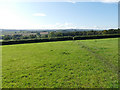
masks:
<svg viewBox="0 0 120 90"><path fill-rule="evenodd" d="M118 38L2 46L3 88L118 88Z"/></svg>

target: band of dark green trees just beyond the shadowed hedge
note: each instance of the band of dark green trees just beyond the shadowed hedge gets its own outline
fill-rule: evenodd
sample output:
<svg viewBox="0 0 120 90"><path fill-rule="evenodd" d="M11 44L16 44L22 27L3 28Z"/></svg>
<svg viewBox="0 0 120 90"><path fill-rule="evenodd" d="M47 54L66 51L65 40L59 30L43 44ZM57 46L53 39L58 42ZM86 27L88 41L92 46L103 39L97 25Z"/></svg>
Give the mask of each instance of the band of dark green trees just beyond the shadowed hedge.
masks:
<svg viewBox="0 0 120 90"><path fill-rule="evenodd" d="M42 38L64 38L64 37L86 37L86 36L100 36L100 35L114 35L120 34L120 29L109 29L109 30L90 30L90 31L68 31L68 32L60 32L60 31L51 31L48 34L40 34L36 32L35 35L4 35L1 36L3 40L27 40L27 39L42 39Z"/></svg>

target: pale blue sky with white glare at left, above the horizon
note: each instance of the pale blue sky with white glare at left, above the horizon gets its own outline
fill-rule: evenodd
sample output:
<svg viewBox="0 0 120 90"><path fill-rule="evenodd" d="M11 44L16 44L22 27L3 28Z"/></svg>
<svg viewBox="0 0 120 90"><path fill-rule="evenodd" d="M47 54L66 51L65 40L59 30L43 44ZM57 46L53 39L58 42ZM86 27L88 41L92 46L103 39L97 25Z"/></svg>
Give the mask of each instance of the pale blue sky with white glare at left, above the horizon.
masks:
<svg viewBox="0 0 120 90"><path fill-rule="evenodd" d="M0 2L0 29L118 28L116 0Z"/></svg>

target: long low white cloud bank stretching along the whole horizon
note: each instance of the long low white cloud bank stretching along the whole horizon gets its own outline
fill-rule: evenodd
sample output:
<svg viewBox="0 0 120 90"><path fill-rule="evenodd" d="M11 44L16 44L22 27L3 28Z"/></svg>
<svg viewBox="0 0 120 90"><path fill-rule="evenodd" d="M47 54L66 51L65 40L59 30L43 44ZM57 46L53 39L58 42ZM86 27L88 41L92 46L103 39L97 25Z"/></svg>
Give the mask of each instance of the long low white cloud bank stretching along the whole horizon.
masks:
<svg viewBox="0 0 120 90"><path fill-rule="evenodd" d="M82 26L73 23L55 23L55 24L33 24L29 22L0 24L0 29L111 29L117 28L112 25L109 26Z"/></svg>

